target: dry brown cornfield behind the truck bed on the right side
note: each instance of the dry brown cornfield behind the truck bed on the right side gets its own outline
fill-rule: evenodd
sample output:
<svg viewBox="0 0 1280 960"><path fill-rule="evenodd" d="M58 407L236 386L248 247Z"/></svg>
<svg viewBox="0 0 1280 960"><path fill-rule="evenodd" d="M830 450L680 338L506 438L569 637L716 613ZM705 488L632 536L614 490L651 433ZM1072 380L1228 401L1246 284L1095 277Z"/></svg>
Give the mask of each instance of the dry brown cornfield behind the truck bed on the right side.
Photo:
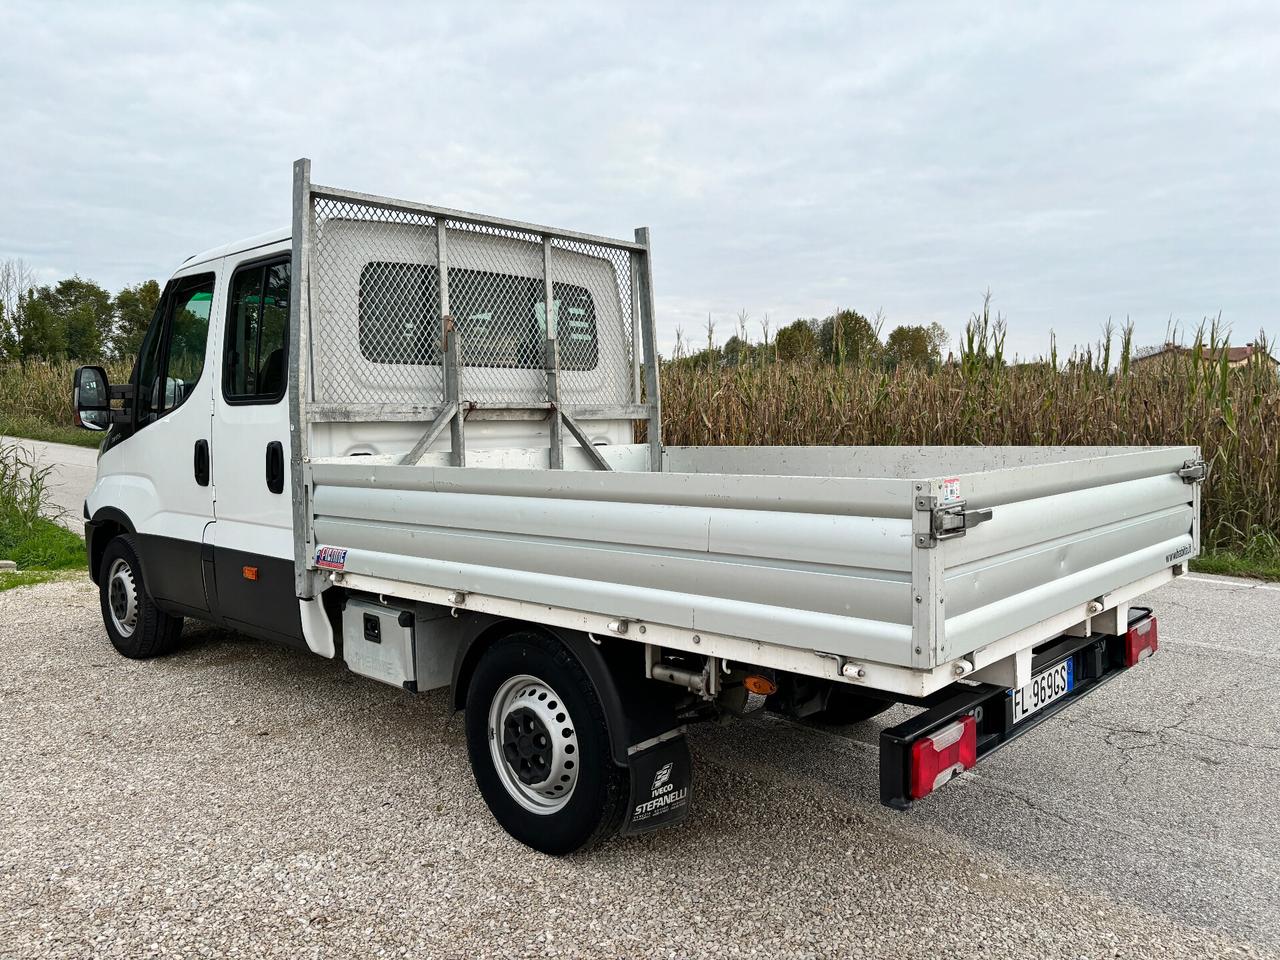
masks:
<svg viewBox="0 0 1280 960"><path fill-rule="evenodd" d="M1204 545L1280 553L1280 384L1267 344L1231 367L1225 338L1134 362L1125 330L1064 362L1007 365L970 325L957 362L836 366L676 360L662 371L668 444L1198 444L1210 463Z"/></svg>

